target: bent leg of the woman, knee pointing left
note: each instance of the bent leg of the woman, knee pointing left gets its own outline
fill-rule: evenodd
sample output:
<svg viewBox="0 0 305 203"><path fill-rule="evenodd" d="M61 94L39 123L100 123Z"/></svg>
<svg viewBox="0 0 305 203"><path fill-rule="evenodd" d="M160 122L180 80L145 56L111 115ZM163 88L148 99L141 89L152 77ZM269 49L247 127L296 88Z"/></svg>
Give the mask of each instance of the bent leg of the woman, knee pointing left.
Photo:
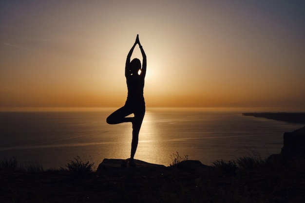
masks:
<svg viewBox="0 0 305 203"><path fill-rule="evenodd" d="M118 123L124 123L124 122L132 122L133 118L132 117L128 117L126 118L126 116L132 114L133 111L130 108L127 107L121 107L120 109L114 111L112 114L110 114L107 119L106 122L108 124L118 124Z"/></svg>

